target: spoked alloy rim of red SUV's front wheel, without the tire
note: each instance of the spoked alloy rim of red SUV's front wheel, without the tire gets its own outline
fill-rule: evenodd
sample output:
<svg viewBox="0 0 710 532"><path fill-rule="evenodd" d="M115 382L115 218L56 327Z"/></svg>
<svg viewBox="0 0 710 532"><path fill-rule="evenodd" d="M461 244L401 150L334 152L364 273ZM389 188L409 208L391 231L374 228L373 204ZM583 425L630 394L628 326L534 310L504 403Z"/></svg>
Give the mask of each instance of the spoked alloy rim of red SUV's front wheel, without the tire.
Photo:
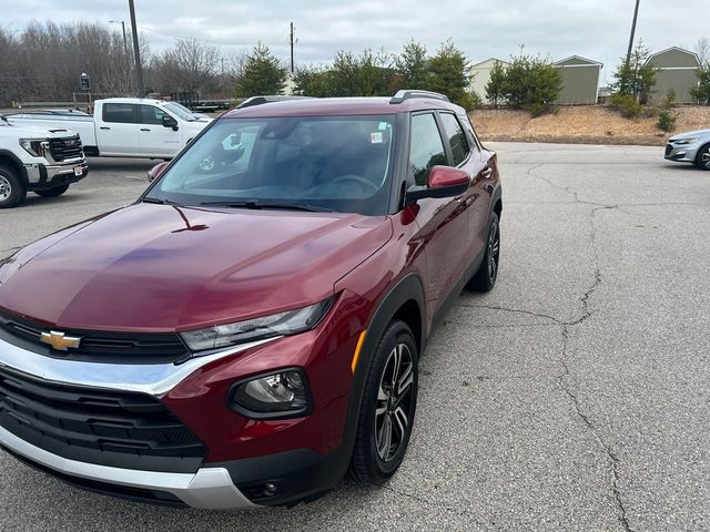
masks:
<svg viewBox="0 0 710 532"><path fill-rule="evenodd" d="M377 388L375 446L383 462L393 460L407 439L413 383L412 352L405 344L397 344L387 357Z"/></svg>

